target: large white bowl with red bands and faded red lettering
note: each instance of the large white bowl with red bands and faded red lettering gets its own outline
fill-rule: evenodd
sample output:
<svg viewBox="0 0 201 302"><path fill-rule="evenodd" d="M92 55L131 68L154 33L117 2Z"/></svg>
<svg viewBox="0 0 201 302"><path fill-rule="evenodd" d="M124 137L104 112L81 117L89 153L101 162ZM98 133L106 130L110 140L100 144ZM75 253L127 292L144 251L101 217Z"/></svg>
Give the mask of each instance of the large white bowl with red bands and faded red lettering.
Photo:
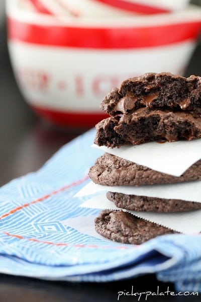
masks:
<svg viewBox="0 0 201 302"><path fill-rule="evenodd" d="M19 87L57 124L93 126L114 87L145 72L182 74L201 26L200 9L125 18L55 18L8 0L8 39Z"/></svg>

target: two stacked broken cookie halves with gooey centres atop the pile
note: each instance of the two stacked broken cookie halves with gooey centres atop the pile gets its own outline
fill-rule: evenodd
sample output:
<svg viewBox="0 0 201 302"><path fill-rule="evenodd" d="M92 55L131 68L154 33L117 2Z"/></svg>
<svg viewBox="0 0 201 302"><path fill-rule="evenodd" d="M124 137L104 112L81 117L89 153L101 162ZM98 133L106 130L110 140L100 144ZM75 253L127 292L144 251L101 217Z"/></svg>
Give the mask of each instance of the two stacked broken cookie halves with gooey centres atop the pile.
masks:
<svg viewBox="0 0 201 302"><path fill-rule="evenodd" d="M94 143L109 147L201 137L201 78L146 73L124 81L100 106Z"/></svg>

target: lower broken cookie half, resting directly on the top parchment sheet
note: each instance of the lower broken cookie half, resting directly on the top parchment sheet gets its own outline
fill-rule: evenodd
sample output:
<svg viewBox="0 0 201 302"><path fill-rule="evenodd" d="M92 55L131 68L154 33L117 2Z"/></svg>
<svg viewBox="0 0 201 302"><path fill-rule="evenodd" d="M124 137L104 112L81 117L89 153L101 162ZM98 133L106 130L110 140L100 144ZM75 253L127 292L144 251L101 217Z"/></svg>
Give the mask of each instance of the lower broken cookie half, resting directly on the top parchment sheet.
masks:
<svg viewBox="0 0 201 302"><path fill-rule="evenodd" d="M99 122L94 143L113 148L154 140L177 141L199 137L201 117L197 112L140 108L134 113L109 117Z"/></svg>

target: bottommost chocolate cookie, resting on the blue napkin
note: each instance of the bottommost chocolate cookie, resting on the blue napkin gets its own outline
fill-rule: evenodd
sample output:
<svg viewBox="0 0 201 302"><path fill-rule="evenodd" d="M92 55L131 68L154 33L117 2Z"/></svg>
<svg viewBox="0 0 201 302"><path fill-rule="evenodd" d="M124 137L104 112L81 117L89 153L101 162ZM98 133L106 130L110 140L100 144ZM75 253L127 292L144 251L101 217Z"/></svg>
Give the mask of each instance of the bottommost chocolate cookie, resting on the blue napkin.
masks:
<svg viewBox="0 0 201 302"><path fill-rule="evenodd" d="M129 244L142 244L160 235L177 233L130 213L115 210L100 212L95 218L95 231L113 241Z"/></svg>

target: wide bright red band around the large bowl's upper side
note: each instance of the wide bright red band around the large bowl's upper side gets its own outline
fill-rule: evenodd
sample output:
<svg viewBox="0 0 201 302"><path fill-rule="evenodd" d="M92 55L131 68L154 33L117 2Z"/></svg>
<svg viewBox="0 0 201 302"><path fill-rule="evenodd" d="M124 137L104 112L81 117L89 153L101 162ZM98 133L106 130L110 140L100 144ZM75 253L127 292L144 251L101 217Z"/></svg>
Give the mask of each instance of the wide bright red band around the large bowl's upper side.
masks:
<svg viewBox="0 0 201 302"><path fill-rule="evenodd" d="M37 25L8 18L8 37L27 43L93 49L154 47L196 39L200 21L150 27L91 28Z"/></svg>

